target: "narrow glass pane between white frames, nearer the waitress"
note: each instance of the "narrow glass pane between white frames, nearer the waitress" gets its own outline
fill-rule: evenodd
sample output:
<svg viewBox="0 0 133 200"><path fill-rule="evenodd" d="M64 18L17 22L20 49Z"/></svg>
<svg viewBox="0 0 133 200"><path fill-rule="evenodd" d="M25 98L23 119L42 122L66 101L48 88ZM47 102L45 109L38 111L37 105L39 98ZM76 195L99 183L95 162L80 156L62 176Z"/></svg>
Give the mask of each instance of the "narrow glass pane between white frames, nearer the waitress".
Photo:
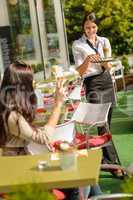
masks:
<svg viewBox="0 0 133 200"><path fill-rule="evenodd" d="M43 0L44 18L48 41L48 59L53 63L60 58L59 35L57 32L53 0Z"/></svg>

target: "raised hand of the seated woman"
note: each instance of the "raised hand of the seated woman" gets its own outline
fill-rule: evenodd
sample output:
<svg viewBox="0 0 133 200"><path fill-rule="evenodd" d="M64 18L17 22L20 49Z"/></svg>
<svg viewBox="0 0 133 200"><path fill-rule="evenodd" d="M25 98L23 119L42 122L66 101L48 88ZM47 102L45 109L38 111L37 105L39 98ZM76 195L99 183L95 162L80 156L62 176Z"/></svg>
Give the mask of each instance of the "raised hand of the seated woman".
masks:
<svg viewBox="0 0 133 200"><path fill-rule="evenodd" d="M56 82L55 103L62 105L67 97L67 80L63 77L58 78Z"/></svg>

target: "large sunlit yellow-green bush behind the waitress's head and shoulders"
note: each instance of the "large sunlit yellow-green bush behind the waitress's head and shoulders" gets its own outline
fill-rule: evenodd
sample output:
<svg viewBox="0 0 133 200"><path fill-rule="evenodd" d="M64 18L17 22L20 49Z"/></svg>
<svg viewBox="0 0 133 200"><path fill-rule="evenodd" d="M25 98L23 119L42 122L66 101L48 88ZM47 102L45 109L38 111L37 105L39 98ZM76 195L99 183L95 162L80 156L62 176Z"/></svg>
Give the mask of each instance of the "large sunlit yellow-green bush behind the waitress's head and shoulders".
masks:
<svg viewBox="0 0 133 200"><path fill-rule="evenodd" d="M71 49L73 40L82 34L81 24L84 14L94 11L100 20L98 34L109 38L113 54L123 55L132 53L132 10L132 0L64 1L69 49Z"/></svg>

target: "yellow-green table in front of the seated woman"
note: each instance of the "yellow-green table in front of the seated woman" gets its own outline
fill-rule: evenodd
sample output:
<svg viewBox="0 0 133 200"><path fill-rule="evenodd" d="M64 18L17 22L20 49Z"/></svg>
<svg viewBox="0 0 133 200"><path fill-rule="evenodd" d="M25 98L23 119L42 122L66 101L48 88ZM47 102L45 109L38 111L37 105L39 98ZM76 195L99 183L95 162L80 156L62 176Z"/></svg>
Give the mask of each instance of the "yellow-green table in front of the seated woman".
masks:
<svg viewBox="0 0 133 200"><path fill-rule="evenodd" d="M79 153L82 153L80 150ZM52 154L53 155L53 154ZM86 150L77 159L77 169L61 170L59 160L50 161L51 167L43 171L37 168L38 160L47 160L50 153L17 157L0 157L0 192L10 192L13 186L43 184L44 188L72 188L93 185L98 182L101 149Z"/></svg>

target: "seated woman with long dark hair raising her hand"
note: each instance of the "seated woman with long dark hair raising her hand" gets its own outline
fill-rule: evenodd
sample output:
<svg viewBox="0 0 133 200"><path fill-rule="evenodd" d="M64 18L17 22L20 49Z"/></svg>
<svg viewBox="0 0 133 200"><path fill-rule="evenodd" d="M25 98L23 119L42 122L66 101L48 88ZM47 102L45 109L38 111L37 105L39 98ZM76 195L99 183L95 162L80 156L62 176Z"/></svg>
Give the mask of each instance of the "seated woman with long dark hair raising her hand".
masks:
<svg viewBox="0 0 133 200"><path fill-rule="evenodd" d="M51 137L58 123L66 96L65 80L58 79L55 106L44 129L32 125L37 105L31 66L14 62L5 69L0 89L0 147L3 156L28 154L30 141L53 151ZM89 191L88 191L89 193ZM66 191L67 200L79 199L78 189Z"/></svg>

